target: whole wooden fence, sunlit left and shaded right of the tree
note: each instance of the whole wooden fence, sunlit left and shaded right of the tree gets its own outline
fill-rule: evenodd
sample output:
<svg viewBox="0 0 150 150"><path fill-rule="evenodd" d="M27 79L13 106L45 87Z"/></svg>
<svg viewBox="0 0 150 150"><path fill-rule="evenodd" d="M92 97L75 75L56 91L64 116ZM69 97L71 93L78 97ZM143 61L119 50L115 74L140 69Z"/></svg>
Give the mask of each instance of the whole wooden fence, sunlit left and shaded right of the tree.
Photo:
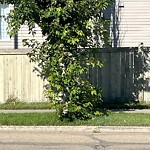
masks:
<svg viewBox="0 0 150 150"><path fill-rule="evenodd" d="M45 101L46 84L33 71L29 50L0 51L0 102L18 98L27 102ZM138 48L100 49L97 57L103 68L90 69L90 81L102 87L108 102L150 101L149 50Z"/></svg>

